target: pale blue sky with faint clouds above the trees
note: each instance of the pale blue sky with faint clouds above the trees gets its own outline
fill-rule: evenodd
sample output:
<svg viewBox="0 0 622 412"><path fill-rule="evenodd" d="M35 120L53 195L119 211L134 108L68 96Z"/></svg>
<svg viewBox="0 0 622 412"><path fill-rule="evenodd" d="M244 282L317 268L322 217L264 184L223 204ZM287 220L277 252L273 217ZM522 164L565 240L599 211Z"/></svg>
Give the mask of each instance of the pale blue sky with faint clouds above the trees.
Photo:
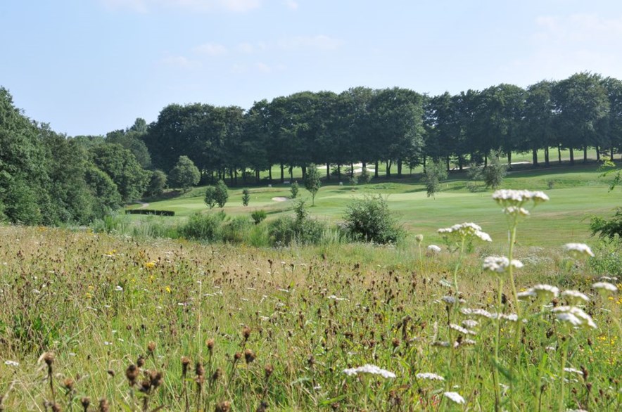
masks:
<svg viewBox="0 0 622 412"><path fill-rule="evenodd" d="M0 0L0 86L68 136L166 105L622 79L618 0Z"/></svg>

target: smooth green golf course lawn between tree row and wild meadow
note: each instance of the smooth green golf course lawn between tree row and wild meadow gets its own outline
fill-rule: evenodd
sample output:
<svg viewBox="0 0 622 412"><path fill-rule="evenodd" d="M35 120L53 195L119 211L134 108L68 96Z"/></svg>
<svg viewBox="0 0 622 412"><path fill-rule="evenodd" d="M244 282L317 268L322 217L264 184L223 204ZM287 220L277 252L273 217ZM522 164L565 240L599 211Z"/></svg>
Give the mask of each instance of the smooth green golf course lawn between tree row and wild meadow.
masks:
<svg viewBox="0 0 622 412"><path fill-rule="evenodd" d="M578 164L574 167L554 166L547 169L525 169L515 167L504 180L504 188L528 188L545 191L550 202L541 205L533 215L521 224L519 238L523 245L558 245L570 241L585 241L589 238L588 222L593 215L608 216L620 205L619 192L608 192L607 181L599 177L597 164ZM493 239L505 238L507 229L504 214L491 199L491 190L471 193L466 189L466 173L452 172L445 182L443 191L436 198L428 198L419 177L395 181L372 180L371 184L339 186L329 182L319 190L315 207L310 213L329 221L340 221L348 202L364 195L383 195L388 205L398 214L405 228L411 233L423 233L426 240L440 242L436 229L462 221L474 221L488 231ZM552 187L552 188L549 188ZM207 212L203 202L204 188L193 188L176 198L151 202L150 209L172 210L174 218L186 219L195 212ZM243 207L241 188L231 189L229 202L224 207L227 214L249 214L263 209L274 219L281 213L291 213L296 200L277 202L273 198L287 198L288 185L274 184L250 188L250 205ZM309 193L301 185L298 196L311 202ZM132 205L132 208L139 205ZM141 219L141 217L134 217Z"/></svg>

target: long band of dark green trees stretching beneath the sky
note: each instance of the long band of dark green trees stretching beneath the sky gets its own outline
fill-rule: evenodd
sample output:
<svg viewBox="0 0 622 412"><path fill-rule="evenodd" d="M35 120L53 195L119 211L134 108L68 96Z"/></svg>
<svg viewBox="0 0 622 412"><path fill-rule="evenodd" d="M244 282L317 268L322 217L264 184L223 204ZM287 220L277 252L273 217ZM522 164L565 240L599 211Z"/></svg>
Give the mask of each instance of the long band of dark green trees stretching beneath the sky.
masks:
<svg viewBox="0 0 622 412"><path fill-rule="evenodd" d="M622 82L590 72L438 96L355 87L261 100L248 110L171 104L151 124L137 119L106 136L72 138L25 117L0 88L0 219L84 223L159 193L167 179L179 188L198 179L250 184L268 170L269 182L282 183L294 167L305 176L311 163L326 165L331 179L357 162L374 165L376 177L383 162L390 178L427 160L446 169L486 165L491 151L509 163L512 153L532 153L534 165L550 165L569 149L574 163L576 151L587 160L590 148L611 159L622 150Z"/></svg>

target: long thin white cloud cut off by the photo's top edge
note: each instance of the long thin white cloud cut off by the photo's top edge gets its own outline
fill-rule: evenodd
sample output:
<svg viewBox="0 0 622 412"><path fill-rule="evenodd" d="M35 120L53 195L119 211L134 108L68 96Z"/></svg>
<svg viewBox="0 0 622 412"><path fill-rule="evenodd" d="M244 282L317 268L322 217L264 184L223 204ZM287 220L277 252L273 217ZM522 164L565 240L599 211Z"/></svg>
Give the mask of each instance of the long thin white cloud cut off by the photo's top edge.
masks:
<svg viewBox="0 0 622 412"><path fill-rule="evenodd" d="M100 0L110 9L129 9L146 13L157 8L179 8L190 11L246 12L261 6L262 0Z"/></svg>

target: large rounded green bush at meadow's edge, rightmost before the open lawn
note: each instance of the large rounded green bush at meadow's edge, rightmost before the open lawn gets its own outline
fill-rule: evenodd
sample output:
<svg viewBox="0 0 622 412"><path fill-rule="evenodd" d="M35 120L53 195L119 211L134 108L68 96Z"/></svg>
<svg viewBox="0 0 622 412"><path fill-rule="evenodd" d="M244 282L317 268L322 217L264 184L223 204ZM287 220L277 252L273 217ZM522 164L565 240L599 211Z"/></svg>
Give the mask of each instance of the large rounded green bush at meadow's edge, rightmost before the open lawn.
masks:
<svg viewBox="0 0 622 412"><path fill-rule="evenodd" d="M397 243L405 231L389 212L386 199L367 196L350 202L345 211L345 227L353 240L374 243Z"/></svg>

